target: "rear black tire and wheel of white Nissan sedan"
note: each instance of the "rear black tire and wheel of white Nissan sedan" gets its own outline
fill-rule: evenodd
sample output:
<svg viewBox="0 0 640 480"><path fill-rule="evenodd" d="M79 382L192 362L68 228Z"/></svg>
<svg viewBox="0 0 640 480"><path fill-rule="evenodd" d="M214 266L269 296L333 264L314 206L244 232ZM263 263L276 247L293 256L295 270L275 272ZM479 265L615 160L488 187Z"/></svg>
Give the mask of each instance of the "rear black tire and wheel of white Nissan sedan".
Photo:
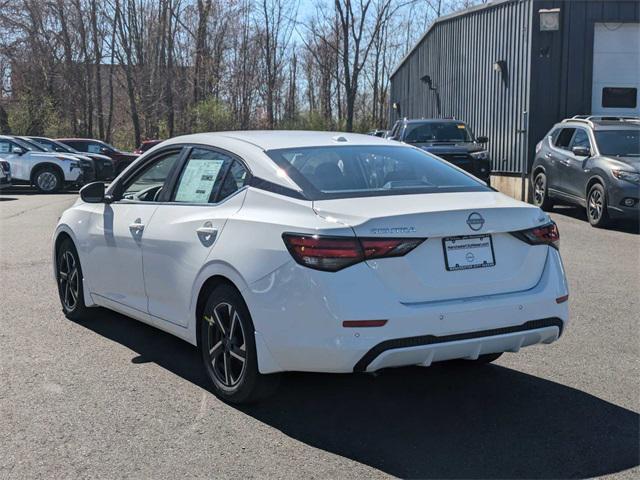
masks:
<svg viewBox="0 0 640 480"><path fill-rule="evenodd" d="M222 400L252 403L271 395L279 375L258 371L255 328L242 295L231 285L209 296L200 322L200 351L214 393Z"/></svg>

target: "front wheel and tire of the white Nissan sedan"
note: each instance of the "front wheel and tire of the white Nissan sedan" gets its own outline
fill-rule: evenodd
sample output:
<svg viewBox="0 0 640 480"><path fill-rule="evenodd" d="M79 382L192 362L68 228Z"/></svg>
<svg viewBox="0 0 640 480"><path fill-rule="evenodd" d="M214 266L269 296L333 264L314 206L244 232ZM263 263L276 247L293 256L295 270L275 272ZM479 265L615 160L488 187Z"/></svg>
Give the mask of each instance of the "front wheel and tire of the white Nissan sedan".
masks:
<svg viewBox="0 0 640 480"><path fill-rule="evenodd" d="M65 238L56 251L56 280L62 311L70 320L83 320L87 315L82 278L78 251L71 239Z"/></svg>

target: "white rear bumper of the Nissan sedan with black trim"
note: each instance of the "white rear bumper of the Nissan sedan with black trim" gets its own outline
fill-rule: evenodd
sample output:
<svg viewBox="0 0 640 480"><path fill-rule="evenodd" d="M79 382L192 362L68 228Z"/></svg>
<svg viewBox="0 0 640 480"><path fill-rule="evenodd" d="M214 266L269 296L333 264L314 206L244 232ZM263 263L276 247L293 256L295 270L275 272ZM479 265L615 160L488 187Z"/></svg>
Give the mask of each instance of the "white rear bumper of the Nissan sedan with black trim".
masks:
<svg viewBox="0 0 640 480"><path fill-rule="evenodd" d="M403 304L370 268L358 264L331 276L291 262L244 291L260 338L260 371L370 372L477 358L553 342L568 321L554 248L531 289L447 301ZM347 328L346 320L387 322Z"/></svg>

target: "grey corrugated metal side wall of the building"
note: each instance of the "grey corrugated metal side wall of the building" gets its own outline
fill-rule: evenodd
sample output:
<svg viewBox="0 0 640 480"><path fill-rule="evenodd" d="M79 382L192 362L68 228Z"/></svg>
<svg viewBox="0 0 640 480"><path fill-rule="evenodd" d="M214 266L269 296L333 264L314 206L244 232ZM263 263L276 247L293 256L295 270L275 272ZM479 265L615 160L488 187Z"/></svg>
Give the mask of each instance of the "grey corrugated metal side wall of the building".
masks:
<svg viewBox="0 0 640 480"><path fill-rule="evenodd" d="M526 168L531 2L506 0L439 21L391 78L400 117L455 117L489 137L496 173ZM504 61L503 72L494 64ZM421 80L429 75L440 96Z"/></svg>

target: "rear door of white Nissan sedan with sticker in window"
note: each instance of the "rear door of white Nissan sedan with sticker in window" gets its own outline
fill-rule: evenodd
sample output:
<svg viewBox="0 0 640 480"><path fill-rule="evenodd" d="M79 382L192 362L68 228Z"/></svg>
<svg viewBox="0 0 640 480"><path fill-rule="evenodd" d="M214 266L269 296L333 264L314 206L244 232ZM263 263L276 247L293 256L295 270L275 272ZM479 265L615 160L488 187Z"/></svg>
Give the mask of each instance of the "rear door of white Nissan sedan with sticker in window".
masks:
<svg viewBox="0 0 640 480"><path fill-rule="evenodd" d="M144 279L149 313L186 326L193 284L227 219L242 207L248 170L239 159L194 148L173 189L145 229Z"/></svg>

